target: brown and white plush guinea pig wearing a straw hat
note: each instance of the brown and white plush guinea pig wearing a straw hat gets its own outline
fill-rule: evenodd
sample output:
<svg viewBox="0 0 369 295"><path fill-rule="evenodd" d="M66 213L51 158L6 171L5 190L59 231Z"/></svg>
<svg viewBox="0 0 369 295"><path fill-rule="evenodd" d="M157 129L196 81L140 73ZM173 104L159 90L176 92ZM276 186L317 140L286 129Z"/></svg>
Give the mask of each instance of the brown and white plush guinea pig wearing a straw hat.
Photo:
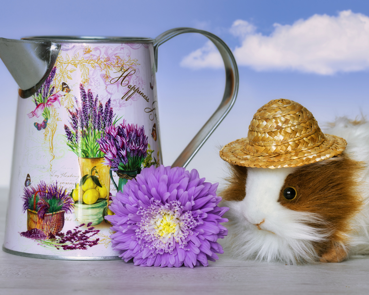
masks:
<svg viewBox="0 0 369 295"><path fill-rule="evenodd" d="M302 105L272 100L247 138L220 151L232 170L221 196L236 257L298 264L369 253L369 123L341 118L328 133Z"/></svg>

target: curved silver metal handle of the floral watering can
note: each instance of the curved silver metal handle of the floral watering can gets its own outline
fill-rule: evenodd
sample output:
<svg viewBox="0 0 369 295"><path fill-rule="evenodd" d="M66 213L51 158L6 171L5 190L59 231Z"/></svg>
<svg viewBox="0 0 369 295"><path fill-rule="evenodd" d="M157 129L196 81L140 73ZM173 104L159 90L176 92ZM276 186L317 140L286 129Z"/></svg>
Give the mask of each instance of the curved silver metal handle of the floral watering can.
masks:
<svg viewBox="0 0 369 295"><path fill-rule="evenodd" d="M204 124L199 132L194 136L190 143L186 146L183 152L172 164L173 167L186 167L191 159L196 155L200 147L210 137L211 133L218 127L220 122L231 110L238 92L238 69L234 56L222 39L211 34L210 32L197 30L193 28L175 28L164 32L156 37L154 42L154 56L155 56L155 68L158 69L158 47L164 42L172 39L173 37L183 33L200 33L206 36L214 43L218 48L220 55L223 58L225 67L225 90L223 99L210 119Z"/></svg>

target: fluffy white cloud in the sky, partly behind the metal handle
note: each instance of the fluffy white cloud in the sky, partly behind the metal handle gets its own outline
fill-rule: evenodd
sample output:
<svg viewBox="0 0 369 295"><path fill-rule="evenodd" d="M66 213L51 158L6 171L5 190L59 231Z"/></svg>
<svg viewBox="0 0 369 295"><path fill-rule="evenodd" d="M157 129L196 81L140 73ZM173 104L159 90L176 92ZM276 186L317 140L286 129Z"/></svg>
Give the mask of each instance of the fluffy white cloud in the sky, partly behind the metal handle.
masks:
<svg viewBox="0 0 369 295"><path fill-rule="evenodd" d="M269 36L236 20L231 33L241 46L234 52L239 66L255 70L297 70L330 75L369 69L369 17L351 10L338 16L315 14L292 25L275 24ZM195 69L220 67L220 55L207 43L186 56L181 65Z"/></svg>

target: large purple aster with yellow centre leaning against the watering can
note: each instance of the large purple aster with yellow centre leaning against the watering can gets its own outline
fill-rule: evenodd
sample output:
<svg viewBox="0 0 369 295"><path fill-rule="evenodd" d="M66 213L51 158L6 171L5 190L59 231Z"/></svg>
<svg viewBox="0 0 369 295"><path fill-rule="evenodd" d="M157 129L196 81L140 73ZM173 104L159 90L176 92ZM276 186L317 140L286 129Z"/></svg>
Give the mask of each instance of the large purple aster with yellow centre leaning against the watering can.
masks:
<svg viewBox="0 0 369 295"><path fill-rule="evenodd" d="M196 169L161 165L145 168L128 180L105 218L115 231L112 246L135 265L186 267L208 265L224 253L219 238L227 235L220 222L228 211L218 207L218 183L204 182Z"/></svg>

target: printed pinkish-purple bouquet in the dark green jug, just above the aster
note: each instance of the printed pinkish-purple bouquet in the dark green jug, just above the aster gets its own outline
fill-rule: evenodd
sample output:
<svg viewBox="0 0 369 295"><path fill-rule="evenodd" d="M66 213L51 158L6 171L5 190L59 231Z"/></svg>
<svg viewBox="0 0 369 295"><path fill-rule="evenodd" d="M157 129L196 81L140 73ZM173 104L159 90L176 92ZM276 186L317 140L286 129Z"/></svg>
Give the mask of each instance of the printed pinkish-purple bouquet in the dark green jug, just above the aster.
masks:
<svg viewBox="0 0 369 295"><path fill-rule="evenodd" d="M141 170L141 164L147 156L148 137L144 126L123 123L109 126L105 135L97 140L103 152L105 163L111 170Z"/></svg>

